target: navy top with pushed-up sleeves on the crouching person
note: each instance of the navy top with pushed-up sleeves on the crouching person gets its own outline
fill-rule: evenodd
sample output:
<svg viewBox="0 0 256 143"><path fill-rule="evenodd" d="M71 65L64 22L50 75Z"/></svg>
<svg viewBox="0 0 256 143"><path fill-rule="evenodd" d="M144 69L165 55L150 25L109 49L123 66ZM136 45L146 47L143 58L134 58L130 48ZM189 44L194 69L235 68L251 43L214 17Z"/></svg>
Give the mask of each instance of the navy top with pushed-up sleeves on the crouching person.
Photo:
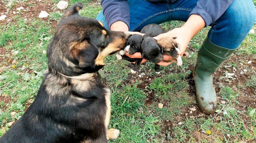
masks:
<svg viewBox="0 0 256 143"><path fill-rule="evenodd" d="M166 1L173 3L178 0L147 0L150 2ZM189 14L200 15L205 21L205 27L216 21L227 10L234 0L199 0L196 7ZM130 11L127 0L101 0L103 15L108 27L116 22L123 21L129 27Z"/></svg>

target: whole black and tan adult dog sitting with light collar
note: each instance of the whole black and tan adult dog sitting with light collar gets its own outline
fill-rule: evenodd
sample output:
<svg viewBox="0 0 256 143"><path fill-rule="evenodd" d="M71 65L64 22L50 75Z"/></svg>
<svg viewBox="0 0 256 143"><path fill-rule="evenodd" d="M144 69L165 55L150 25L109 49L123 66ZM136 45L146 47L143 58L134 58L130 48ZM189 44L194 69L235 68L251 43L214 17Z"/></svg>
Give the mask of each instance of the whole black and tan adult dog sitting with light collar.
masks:
<svg viewBox="0 0 256 143"><path fill-rule="evenodd" d="M107 130L110 90L98 70L104 57L125 46L129 34L106 30L71 6L48 45L49 70L34 102L0 138L1 143L106 143L119 130Z"/></svg>

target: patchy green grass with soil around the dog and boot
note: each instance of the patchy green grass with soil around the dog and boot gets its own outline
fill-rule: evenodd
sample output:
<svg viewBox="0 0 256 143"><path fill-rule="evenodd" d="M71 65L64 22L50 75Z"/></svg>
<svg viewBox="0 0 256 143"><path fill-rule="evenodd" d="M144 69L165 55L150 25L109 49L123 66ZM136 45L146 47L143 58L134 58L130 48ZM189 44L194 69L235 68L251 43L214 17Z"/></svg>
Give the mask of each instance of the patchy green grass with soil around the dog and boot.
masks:
<svg viewBox="0 0 256 143"><path fill-rule="evenodd" d="M53 5L58 1L53 0ZM69 1L69 6L77 0ZM80 11L82 16L95 18L101 7L95 1L83 1L86 5ZM255 3L255 2L254 2ZM16 5L14 3L13 5ZM63 11L54 11L50 21L58 21ZM10 122L15 122L24 113L24 109L33 102L47 69L45 50L54 29L47 21L33 19L24 21L18 15L16 22L0 27L0 47L7 53L0 55L0 136L8 131ZM180 21L162 23L169 31L183 24ZM255 29L255 27L254 27ZM111 92L112 118L110 127L119 129L120 136L109 142L254 142L256 140L255 103L245 102L256 97L256 79L253 73L241 75L237 79L226 79L225 71L236 75L247 69L255 68L246 64L255 61L256 34L249 34L229 59L217 71L222 79L214 79L221 102L218 113L205 115L199 109L190 114L189 107L197 107L193 85L187 77L191 74L197 59L197 51L209 30L203 29L195 36L187 49L189 57L183 58L183 66L172 64L161 67L161 74L156 75L154 64L146 62L141 71L131 75L127 61L117 61L115 56L105 58L106 66L100 70L102 81ZM18 51L16 55L10 54ZM236 58L235 58L236 59ZM241 65L240 63L243 63ZM225 68L225 66L231 66ZM145 76L139 78L140 73ZM230 82L227 82L230 81ZM238 82L237 82L238 81ZM234 84L233 84L234 83ZM254 89L254 92L248 92ZM250 95L249 95L250 93ZM247 97L250 96L250 97ZM8 100L7 100L8 99ZM255 101L254 101L255 102ZM158 103L164 106L159 109ZM241 106L240 106L241 105ZM254 106L253 106L254 105ZM243 107L245 106L245 107ZM11 115L12 112L16 114ZM218 115L216 115L218 114ZM211 131L210 135L206 131Z"/></svg>

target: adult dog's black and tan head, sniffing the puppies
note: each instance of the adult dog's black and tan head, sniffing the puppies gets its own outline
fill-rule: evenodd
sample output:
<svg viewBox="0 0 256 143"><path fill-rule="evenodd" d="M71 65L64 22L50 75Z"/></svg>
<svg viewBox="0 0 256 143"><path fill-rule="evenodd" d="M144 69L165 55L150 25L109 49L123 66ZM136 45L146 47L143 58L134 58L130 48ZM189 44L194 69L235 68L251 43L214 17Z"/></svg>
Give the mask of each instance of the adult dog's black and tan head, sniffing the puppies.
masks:
<svg viewBox="0 0 256 143"><path fill-rule="evenodd" d="M76 3L65 11L47 49L49 71L67 76L93 73L104 66L104 57L121 50L129 34L108 31L100 21L78 14Z"/></svg>

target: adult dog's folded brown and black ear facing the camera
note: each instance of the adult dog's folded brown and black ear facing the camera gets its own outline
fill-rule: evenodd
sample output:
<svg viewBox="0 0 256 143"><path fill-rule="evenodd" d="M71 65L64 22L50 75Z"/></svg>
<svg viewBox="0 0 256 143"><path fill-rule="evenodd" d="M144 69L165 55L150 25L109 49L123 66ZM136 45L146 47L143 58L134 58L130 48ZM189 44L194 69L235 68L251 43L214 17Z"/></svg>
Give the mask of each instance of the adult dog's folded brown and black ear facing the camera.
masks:
<svg viewBox="0 0 256 143"><path fill-rule="evenodd" d="M79 68L95 69L95 59L99 51L98 48L90 44L90 42L87 40L71 42L69 51L70 58L78 63Z"/></svg>

